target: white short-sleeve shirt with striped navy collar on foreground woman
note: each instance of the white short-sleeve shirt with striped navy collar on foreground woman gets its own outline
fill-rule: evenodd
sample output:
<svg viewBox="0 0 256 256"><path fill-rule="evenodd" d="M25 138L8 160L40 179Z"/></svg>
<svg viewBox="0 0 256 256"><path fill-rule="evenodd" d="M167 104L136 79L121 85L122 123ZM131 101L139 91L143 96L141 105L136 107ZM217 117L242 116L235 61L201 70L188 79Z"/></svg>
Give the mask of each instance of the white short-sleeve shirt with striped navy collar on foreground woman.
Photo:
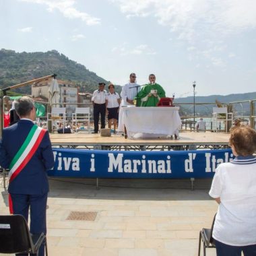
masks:
<svg viewBox="0 0 256 256"><path fill-rule="evenodd" d="M220 197L213 237L226 245L256 244L256 158L238 156L218 166L211 197Z"/></svg>

